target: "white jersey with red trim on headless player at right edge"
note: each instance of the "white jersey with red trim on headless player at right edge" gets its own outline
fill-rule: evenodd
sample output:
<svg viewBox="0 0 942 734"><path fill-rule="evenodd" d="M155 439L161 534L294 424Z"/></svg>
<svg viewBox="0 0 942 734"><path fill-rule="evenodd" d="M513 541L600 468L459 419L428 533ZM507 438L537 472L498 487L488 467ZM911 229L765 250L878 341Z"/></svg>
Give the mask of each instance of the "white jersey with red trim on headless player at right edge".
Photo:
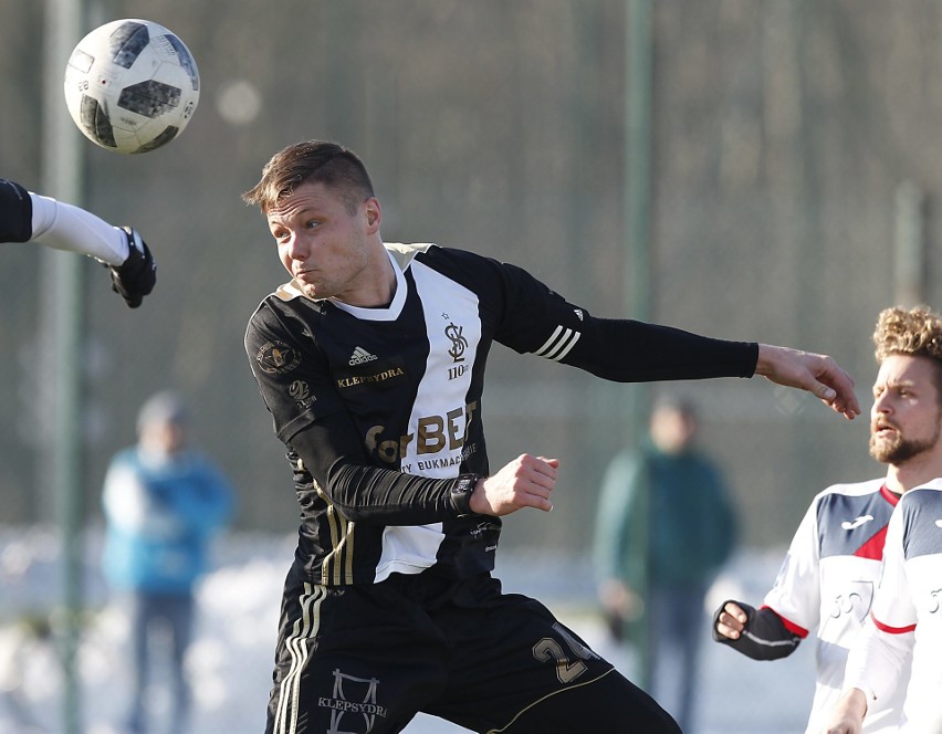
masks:
<svg viewBox="0 0 942 734"><path fill-rule="evenodd" d="M942 732L942 480L907 492L890 520L870 619L847 664L847 688L878 710L911 663L906 692L913 734Z"/></svg>

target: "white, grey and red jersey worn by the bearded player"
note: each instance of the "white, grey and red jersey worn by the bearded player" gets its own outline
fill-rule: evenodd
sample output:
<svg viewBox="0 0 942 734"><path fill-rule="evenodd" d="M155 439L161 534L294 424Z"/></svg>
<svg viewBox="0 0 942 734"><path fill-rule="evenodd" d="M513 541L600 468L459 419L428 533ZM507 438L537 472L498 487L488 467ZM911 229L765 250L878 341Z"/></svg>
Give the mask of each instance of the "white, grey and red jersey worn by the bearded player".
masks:
<svg viewBox="0 0 942 734"><path fill-rule="evenodd" d="M887 525L899 496L883 479L835 484L805 513L764 606L795 635L817 629L815 699L807 734L820 731L840 698L854 639L864 627L879 583ZM873 706L866 734L896 731L902 686Z"/></svg>

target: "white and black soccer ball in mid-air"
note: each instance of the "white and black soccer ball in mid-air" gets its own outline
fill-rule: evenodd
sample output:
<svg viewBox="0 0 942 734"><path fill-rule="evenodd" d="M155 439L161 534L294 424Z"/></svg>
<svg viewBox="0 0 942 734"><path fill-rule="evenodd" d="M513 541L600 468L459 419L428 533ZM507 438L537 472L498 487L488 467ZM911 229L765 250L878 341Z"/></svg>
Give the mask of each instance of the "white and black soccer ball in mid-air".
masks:
<svg viewBox="0 0 942 734"><path fill-rule="evenodd" d="M199 71L184 42L149 20L105 23L65 67L65 104L92 143L147 153L177 137L199 102Z"/></svg>

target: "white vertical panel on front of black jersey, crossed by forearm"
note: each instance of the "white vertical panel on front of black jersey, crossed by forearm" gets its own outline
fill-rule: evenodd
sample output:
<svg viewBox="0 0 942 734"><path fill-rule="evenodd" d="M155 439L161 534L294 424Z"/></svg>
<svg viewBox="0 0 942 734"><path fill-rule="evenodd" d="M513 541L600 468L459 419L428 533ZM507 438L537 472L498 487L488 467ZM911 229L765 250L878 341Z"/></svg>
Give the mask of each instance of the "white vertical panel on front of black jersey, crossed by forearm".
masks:
<svg viewBox="0 0 942 734"><path fill-rule="evenodd" d="M400 470L436 479L458 476L474 367L469 345L481 340L478 296L417 261L410 272L421 297L429 356L409 418L408 433L415 439L402 452ZM443 539L441 523L386 527L376 580L429 568Z"/></svg>

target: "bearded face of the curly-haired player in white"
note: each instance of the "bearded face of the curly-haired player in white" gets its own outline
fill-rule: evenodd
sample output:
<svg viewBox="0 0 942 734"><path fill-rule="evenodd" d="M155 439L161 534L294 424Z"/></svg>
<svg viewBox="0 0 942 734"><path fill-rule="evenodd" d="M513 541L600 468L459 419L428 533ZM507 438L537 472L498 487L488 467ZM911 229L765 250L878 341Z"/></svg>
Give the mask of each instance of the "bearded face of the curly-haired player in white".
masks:
<svg viewBox="0 0 942 734"><path fill-rule="evenodd" d="M880 365L870 410L870 455L901 464L935 450L942 410L935 366L925 357L892 355Z"/></svg>

